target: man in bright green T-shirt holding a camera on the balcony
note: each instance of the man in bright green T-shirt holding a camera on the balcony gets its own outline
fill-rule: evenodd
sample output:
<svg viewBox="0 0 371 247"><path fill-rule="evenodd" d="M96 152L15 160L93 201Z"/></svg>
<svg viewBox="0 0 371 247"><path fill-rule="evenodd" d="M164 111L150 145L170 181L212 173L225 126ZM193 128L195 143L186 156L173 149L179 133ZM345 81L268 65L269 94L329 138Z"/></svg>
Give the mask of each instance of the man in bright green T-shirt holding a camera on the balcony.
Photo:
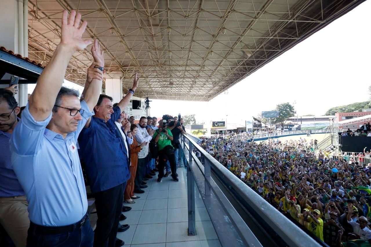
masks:
<svg viewBox="0 0 371 247"><path fill-rule="evenodd" d="M158 148L158 178L157 182L162 181L162 177L164 177L164 167L167 161L170 163L171 168L171 177L174 181L179 181L176 177L176 163L175 163L175 156L174 156L174 148L171 145L171 141L173 141L173 134L171 134L170 129L166 128L163 129L163 120L158 122L159 129L155 131L153 137L155 138L155 142L157 142Z"/></svg>

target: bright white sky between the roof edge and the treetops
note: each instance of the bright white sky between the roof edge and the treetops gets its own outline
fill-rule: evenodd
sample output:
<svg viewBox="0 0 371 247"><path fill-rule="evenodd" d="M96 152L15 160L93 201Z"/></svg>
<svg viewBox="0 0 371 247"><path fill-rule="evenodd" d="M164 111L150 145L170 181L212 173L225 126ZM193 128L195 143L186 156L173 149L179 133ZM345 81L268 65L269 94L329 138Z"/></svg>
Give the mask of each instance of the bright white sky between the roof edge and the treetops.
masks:
<svg viewBox="0 0 371 247"><path fill-rule="evenodd" d="M196 114L197 122L250 120L296 101L298 115L368 100L371 1L330 23L210 102L152 99L151 116ZM364 90L361 90L364 89Z"/></svg>

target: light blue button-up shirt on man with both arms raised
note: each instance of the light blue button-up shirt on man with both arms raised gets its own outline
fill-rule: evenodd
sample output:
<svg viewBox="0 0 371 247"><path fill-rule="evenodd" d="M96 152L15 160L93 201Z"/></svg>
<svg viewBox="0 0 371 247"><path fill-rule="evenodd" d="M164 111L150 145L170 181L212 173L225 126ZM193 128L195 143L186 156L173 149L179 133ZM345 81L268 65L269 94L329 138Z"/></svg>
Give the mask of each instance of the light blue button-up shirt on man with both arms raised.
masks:
<svg viewBox="0 0 371 247"><path fill-rule="evenodd" d="M38 225L63 226L76 223L86 214L88 201L80 159L76 148L77 137L88 118L84 110L75 132L65 139L46 129L52 113L44 121L35 121L28 104L22 119L10 138L12 166L29 202L30 220Z"/></svg>

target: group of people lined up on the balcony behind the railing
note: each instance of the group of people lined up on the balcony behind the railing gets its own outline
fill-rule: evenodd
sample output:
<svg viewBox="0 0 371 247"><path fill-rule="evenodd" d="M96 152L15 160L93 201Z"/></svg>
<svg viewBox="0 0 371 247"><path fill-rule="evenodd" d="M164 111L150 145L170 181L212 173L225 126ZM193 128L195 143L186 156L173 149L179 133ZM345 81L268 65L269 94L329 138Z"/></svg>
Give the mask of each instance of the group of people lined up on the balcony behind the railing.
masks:
<svg viewBox="0 0 371 247"><path fill-rule="evenodd" d="M16 86L0 89L0 224L16 247L123 246L116 234L129 225L119 221L146 181L157 172L158 182L169 175L179 181L175 150L186 134L183 119L128 118L137 73L121 101L100 94L104 52L97 40L81 97L62 87L73 53L92 43L82 39L80 20L80 13L63 11L60 44L22 113ZM86 185L98 216L94 232Z"/></svg>

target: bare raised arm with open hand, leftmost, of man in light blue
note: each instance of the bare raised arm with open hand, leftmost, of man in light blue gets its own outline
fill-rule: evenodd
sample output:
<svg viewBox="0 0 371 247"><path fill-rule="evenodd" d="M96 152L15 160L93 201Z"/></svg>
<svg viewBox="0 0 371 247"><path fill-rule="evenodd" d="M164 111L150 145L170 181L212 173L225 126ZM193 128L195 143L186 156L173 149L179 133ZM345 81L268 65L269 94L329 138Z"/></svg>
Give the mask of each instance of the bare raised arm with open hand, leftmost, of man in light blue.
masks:
<svg viewBox="0 0 371 247"><path fill-rule="evenodd" d="M52 112L73 53L91 44L91 40L82 40L87 23L84 21L80 26L81 14L72 10L68 19L67 16L68 12L63 11L60 43L30 96L29 110L36 121L44 121Z"/></svg>

